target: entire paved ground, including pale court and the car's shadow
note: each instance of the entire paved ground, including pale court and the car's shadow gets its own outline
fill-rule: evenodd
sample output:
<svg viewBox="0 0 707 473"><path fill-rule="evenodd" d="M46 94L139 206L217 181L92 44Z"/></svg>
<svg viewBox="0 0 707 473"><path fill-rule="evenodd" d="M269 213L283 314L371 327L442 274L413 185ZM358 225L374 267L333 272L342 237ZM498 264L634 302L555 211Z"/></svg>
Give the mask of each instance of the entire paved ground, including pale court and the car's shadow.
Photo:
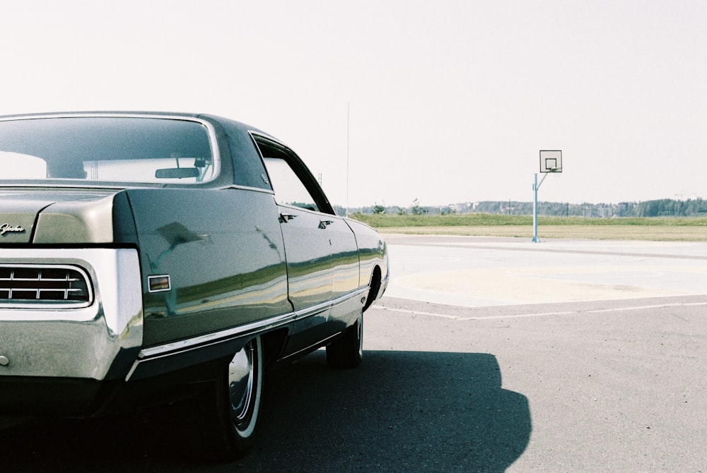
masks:
<svg viewBox="0 0 707 473"><path fill-rule="evenodd" d="M269 373L242 460L158 409L4 429L0 471L707 471L706 244L388 241L363 364Z"/></svg>

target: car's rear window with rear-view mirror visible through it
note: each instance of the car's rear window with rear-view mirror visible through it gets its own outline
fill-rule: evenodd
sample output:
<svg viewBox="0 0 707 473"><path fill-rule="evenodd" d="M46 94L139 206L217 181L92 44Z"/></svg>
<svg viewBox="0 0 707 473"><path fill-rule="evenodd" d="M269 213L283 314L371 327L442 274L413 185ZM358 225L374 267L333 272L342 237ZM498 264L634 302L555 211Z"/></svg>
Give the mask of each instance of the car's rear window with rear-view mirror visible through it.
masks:
<svg viewBox="0 0 707 473"><path fill-rule="evenodd" d="M0 120L0 180L190 184L216 177L200 121L144 116Z"/></svg>

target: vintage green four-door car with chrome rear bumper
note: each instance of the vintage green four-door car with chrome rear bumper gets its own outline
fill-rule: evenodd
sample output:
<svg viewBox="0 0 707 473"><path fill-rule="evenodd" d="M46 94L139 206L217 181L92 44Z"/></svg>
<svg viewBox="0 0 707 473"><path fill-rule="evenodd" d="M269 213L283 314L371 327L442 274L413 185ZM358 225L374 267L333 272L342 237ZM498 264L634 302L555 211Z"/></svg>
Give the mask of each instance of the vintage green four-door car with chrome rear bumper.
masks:
<svg viewBox="0 0 707 473"><path fill-rule="evenodd" d="M188 401L200 448L236 457L264 371L321 347L357 366L387 281L385 241L256 128L0 117L0 415Z"/></svg>

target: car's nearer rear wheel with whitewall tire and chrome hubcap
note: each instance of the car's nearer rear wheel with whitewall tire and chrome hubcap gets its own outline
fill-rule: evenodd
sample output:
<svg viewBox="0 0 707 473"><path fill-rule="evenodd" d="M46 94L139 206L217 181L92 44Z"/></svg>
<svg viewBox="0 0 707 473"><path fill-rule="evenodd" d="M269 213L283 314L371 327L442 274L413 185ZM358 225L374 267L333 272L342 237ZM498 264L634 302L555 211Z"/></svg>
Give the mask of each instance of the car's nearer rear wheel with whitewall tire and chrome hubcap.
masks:
<svg viewBox="0 0 707 473"><path fill-rule="evenodd" d="M263 384L260 337L245 344L216 380L214 390L199 399L192 419L199 455L211 460L235 460L253 443Z"/></svg>

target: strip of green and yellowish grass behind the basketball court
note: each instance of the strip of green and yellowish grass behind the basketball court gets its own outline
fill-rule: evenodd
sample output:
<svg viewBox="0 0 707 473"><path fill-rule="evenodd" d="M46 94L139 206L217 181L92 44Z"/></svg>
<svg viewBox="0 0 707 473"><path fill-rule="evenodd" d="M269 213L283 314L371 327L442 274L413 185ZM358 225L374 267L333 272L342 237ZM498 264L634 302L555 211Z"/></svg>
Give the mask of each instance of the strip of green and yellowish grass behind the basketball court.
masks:
<svg viewBox="0 0 707 473"><path fill-rule="evenodd" d="M351 215L382 233L532 238L527 215ZM540 239L707 241L705 217L539 217Z"/></svg>

